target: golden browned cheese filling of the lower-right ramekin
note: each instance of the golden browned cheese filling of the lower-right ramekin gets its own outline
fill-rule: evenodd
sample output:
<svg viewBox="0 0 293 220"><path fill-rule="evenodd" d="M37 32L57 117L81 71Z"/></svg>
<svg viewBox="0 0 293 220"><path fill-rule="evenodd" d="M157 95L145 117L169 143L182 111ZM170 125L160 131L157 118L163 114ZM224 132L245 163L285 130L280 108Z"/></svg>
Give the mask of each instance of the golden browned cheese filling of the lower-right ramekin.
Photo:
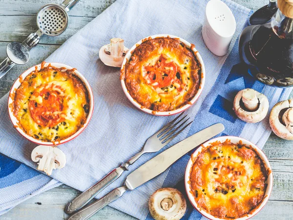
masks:
<svg viewBox="0 0 293 220"><path fill-rule="evenodd" d="M215 142L193 159L191 193L198 206L220 219L237 219L253 212L267 189L268 173L252 148Z"/></svg>

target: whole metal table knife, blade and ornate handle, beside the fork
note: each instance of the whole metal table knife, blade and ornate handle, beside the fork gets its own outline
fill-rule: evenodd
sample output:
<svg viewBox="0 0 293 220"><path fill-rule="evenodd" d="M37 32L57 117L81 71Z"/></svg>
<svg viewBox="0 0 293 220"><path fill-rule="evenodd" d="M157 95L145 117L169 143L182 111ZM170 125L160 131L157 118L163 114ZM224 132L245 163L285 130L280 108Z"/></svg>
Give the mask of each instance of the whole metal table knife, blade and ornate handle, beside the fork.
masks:
<svg viewBox="0 0 293 220"><path fill-rule="evenodd" d="M221 133L224 129L224 125L218 123L191 135L172 147L169 147L167 150L155 156L153 159L149 160L144 165L130 173L126 177L124 186L113 189L101 199L80 209L78 212L71 215L68 220L89 219L110 202L120 198L127 190L133 190L163 173L170 165L172 165L183 155L200 144L208 141L213 136Z"/></svg>

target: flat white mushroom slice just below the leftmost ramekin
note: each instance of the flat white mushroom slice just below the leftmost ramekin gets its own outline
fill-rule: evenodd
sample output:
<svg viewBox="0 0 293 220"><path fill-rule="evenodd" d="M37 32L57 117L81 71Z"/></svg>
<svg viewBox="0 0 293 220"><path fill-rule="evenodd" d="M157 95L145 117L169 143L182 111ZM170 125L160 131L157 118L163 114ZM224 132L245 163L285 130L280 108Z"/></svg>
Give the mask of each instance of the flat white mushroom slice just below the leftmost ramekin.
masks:
<svg viewBox="0 0 293 220"><path fill-rule="evenodd" d="M61 169L66 164L65 154L57 147L39 145L32 151L33 162L39 162L37 169L51 175L53 169Z"/></svg>

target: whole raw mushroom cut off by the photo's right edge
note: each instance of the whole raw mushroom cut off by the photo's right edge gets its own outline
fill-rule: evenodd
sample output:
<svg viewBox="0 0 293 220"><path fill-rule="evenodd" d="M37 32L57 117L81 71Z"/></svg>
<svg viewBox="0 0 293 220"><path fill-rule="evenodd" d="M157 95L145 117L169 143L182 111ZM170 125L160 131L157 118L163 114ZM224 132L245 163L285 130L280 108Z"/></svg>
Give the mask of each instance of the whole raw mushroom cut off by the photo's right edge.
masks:
<svg viewBox="0 0 293 220"><path fill-rule="evenodd" d="M278 137L293 140L293 99L279 102L272 108L270 126Z"/></svg>

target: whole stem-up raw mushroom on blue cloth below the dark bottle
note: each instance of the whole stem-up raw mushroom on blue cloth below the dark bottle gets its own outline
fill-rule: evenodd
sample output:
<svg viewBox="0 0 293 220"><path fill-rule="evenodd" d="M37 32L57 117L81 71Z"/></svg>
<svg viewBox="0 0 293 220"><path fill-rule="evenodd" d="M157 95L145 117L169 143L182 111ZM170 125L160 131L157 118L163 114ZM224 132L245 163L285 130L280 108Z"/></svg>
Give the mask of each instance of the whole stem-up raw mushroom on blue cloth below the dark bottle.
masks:
<svg viewBox="0 0 293 220"><path fill-rule="evenodd" d="M240 104L241 100L243 105ZM233 110L242 121L256 123L266 117L269 100L264 94L255 90L241 90L234 98Z"/></svg>

